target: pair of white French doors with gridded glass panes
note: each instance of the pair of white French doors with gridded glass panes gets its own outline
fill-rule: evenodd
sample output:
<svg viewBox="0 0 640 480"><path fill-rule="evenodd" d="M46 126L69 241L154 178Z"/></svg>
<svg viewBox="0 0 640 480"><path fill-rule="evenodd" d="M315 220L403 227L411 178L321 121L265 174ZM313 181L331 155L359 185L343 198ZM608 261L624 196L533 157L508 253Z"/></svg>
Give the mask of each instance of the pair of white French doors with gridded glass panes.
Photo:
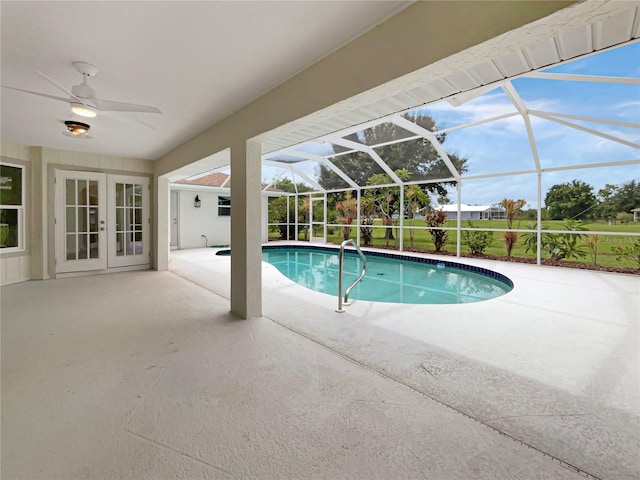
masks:
<svg viewBox="0 0 640 480"><path fill-rule="evenodd" d="M56 272L144 265L149 179L56 170Z"/></svg>

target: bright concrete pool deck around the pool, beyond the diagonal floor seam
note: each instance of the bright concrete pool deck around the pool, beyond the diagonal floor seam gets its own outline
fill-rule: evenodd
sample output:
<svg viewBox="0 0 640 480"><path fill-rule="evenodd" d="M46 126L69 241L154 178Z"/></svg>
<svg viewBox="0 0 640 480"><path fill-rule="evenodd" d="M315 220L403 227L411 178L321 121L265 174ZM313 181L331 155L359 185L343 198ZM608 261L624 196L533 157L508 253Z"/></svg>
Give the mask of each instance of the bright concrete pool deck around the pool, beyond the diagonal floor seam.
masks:
<svg viewBox="0 0 640 480"><path fill-rule="evenodd" d="M228 260L174 253L175 273L228 295L212 281ZM468 305L355 301L337 314L335 297L265 264L264 315L596 477L638 479L639 278L463 260L514 290Z"/></svg>

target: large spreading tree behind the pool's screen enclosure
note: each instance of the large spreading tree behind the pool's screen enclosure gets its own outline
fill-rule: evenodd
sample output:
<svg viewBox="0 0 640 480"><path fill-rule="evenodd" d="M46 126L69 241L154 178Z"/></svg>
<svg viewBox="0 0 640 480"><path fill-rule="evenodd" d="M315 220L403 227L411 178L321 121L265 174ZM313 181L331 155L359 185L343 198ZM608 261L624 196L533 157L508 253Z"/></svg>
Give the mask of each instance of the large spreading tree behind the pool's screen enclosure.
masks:
<svg viewBox="0 0 640 480"><path fill-rule="evenodd" d="M405 114L404 117L426 130L433 131L436 128L433 118L428 115ZM354 133L345 138L363 145L376 145L390 140L397 140L403 136L406 136L406 132L403 129L393 123L387 122L365 129L361 133ZM446 133L437 135L436 138L440 143L443 143L446 139ZM391 145L377 147L375 151L391 170L406 169L410 172L412 179L451 177L451 172L445 166L431 142L427 139L393 143ZM339 153L339 151L336 151L336 153ZM466 158L460 158L452 152L447 152L447 154L458 172L462 173L467 171ZM331 161L358 185L372 185L370 180L374 175L384 175L380 174L380 167L364 152L340 155L333 157ZM327 190L343 187L342 181L338 180L337 176L324 165L320 166L318 174L318 182ZM376 178L378 178L378 180L385 180L383 177ZM386 183L390 183L388 176ZM446 196L446 186L453 183L454 182L451 181L425 184L421 185L421 188L425 192Z"/></svg>

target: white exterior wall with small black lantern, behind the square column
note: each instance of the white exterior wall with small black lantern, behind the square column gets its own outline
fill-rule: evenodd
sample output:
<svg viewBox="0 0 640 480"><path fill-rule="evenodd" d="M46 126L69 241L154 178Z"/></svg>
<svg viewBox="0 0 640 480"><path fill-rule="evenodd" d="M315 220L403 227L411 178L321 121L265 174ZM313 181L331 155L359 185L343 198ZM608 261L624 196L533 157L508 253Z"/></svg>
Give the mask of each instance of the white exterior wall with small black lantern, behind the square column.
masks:
<svg viewBox="0 0 640 480"><path fill-rule="evenodd" d="M178 192L178 248L202 248L207 245L229 245L231 243L231 217L218 216L218 197L229 197L229 190L207 187L190 189L172 185L171 191ZM194 206L195 196L200 197L201 206ZM232 207L233 208L233 202ZM261 239L268 237L268 198L261 198Z"/></svg>

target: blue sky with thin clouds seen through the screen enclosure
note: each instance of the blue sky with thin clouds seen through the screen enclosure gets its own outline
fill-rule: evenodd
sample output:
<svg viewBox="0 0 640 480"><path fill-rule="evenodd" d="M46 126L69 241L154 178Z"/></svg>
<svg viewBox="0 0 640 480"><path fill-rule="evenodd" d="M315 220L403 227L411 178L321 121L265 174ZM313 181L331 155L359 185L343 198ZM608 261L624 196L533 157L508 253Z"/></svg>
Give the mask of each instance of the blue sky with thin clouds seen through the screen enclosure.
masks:
<svg viewBox="0 0 640 480"><path fill-rule="evenodd" d="M555 66L543 72L637 79L640 77L640 43ZM618 126L561 119L632 144L640 144L640 85L526 77L513 80L512 84L530 111L633 123L635 126ZM443 129L491 116L515 113L516 109L505 92L497 88L459 107L442 101L416 111L429 114L434 118L438 129ZM543 169L640 159L640 149L633 145L621 144L538 116L530 118ZM448 153L467 158L466 175L535 169L525 123L520 115L448 132L443 147ZM330 151L330 146L316 145L305 150L321 154ZM306 164L300 170L313 178L316 176L314 170L317 170L317 165ZM263 178L269 180L277 171L274 167L263 167ZM597 194L605 184L620 185L630 180L640 181L640 164L543 173L542 203L544 204L545 193L551 186L574 179L588 183ZM308 183L301 177L295 180ZM462 192L462 202L471 205L491 205L503 198L522 198L527 201L525 208L536 208L538 204L535 174L463 180ZM455 191L450 198L452 201L456 200Z"/></svg>

